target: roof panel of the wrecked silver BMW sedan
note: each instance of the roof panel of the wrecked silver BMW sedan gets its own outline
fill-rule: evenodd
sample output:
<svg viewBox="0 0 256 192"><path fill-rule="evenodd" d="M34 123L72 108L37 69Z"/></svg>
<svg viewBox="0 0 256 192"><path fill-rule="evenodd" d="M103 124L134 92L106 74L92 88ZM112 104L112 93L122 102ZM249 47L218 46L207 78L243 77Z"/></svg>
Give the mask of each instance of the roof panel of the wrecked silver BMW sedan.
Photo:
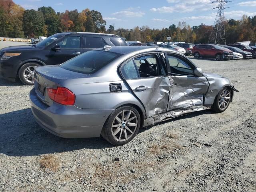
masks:
<svg viewBox="0 0 256 192"><path fill-rule="evenodd" d="M167 48L160 48L160 47L151 47L151 46L114 46L110 48L98 48L96 50L104 50L109 52L114 52L118 54L128 54L132 52L146 52L146 51L166 51L166 52L175 52ZM176 52L175 52L176 53Z"/></svg>

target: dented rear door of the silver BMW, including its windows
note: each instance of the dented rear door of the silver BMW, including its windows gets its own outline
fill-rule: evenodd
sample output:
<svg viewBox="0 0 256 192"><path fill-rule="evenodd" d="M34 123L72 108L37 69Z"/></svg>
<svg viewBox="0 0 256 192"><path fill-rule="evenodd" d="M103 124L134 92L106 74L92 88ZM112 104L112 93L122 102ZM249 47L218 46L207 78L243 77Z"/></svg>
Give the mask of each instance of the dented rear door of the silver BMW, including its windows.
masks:
<svg viewBox="0 0 256 192"><path fill-rule="evenodd" d="M146 116L166 112L170 80L158 53L137 56L121 67L134 95L142 102Z"/></svg>

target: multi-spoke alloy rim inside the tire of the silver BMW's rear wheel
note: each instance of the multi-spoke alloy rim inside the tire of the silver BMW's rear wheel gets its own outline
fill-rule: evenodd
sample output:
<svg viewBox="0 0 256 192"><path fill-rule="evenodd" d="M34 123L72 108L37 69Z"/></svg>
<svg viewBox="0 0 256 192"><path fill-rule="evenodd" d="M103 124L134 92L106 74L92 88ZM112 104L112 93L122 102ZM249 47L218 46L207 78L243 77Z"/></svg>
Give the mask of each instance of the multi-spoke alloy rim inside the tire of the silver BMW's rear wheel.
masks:
<svg viewBox="0 0 256 192"><path fill-rule="evenodd" d="M138 128L138 117L132 110L123 110L112 122L112 136L118 142L130 139Z"/></svg>

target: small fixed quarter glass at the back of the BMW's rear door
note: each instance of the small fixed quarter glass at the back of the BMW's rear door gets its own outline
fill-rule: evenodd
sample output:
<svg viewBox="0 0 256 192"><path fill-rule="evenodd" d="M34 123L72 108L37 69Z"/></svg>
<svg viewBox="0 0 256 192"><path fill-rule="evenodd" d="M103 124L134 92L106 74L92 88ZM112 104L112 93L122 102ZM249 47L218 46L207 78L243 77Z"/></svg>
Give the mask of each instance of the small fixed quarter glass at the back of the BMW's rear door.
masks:
<svg viewBox="0 0 256 192"><path fill-rule="evenodd" d="M139 77L132 59L122 65L121 72L125 79L136 79Z"/></svg>

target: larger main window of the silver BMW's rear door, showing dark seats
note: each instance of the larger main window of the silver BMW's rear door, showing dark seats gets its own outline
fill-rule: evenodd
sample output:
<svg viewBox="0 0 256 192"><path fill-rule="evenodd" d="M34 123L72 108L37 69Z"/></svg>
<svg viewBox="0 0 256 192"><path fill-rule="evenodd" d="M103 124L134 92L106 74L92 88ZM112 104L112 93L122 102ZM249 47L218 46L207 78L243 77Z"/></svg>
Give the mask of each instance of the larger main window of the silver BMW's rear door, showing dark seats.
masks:
<svg viewBox="0 0 256 192"><path fill-rule="evenodd" d="M140 56L134 60L140 77L165 75L164 68L158 63L157 55Z"/></svg>

